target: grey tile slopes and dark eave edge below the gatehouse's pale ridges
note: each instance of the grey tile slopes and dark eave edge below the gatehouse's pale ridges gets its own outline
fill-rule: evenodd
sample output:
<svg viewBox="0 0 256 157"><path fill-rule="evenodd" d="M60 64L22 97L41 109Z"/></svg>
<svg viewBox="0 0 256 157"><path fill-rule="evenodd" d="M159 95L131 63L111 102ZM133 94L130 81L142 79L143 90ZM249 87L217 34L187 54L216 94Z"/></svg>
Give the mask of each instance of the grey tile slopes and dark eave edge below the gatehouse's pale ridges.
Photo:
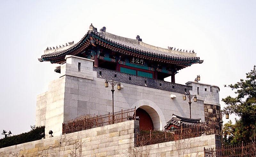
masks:
<svg viewBox="0 0 256 157"><path fill-rule="evenodd" d="M194 63L202 63L203 60L200 60L199 57L186 57L181 55L168 55L168 54L160 54L161 51L157 51L159 53L156 53L156 50L152 50L154 52L141 50L140 48L143 48L143 46L135 45L133 44L133 47L131 43L125 44L125 42L118 41L118 40L111 40L107 37L101 35L98 32L94 31L88 31L86 35L76 44L74 44L72 47L68 48L67 50L58 51L50 54L42 55L41 58L39 58L39 61L51 61L52 63L61 63L65 61L66 55L77 55L78 53L81 53L86 47L89 46L90 41L93 40L95 42L99 42L101 46L103 46L104 43L108 44L108 47L113 48L113 51L119 51L123 52L124 54L130 53L135 55L138 55L140 57L145 57L150 60L156 60L156 61L162 61L166 63L172 63L172 64L179 64L182 65L182 62L184 63L184 67L190 66L188 64L194 64ZM128 45L130 44L130 45ZM106 46L106 45L105 45ZM135 48L134 48L135 47ZM110 49L111 49L110 48ZM164 52L163 52L164 53Z"/></svg>

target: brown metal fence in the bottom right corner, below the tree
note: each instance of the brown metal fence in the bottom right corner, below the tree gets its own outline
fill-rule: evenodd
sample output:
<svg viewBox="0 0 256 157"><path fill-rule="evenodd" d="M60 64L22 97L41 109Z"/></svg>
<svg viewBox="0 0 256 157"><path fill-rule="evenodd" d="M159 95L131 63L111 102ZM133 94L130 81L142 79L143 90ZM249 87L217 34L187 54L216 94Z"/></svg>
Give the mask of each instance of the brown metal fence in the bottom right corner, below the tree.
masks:
<svg viewBox="0 0 256 157"><path fill-rule="evenodd" d="M204 148L204 157L256 157L255 143Z"/></svg>

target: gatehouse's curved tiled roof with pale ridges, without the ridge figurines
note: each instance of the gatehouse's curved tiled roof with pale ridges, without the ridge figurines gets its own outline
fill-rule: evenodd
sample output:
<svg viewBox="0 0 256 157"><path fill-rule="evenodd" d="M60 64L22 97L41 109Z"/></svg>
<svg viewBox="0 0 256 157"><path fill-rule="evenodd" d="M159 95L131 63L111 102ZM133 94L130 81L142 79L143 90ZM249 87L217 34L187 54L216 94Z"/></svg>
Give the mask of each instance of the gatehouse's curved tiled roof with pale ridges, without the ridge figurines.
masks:
<svg viewBox="0 0 256 157"><path fill-rule="evenodd" d="M94 27L93 27L94 28ZM65 60L66 55L76 55L78 50L81 50L83 46L86 44L90 44L91 40L100 39L104 42L109 42L114 44L122 49L127 49L129 51L133 51L135 53L140 53L141 55L151 55L157 59L167 59L167 60L176 60L178 59L187 61L188 63L202 63L203 60L200 60L199 57L196 57L196 53L188 53L188 52L179 52L173 51L170 49L164 49L156 46L152 46L142 41L129 39L125 37L121 37L118 35L114 35L108 32L97 32L97 29L89 30L83 38L75 43L73 46L65 49L62 48L60 51L56 51L53 53L44 54L39 58L39 61L51 61L51 60Z"/></svg>

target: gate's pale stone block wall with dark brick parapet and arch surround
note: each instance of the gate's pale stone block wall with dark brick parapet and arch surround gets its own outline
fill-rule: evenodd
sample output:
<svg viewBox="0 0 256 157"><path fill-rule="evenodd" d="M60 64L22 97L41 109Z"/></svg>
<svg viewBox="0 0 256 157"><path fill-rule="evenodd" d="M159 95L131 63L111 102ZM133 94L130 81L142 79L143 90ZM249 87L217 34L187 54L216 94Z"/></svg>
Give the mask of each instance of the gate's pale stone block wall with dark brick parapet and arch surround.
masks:
<svg viewBox="0 0 256 157"><path fill-rule="evenodd" d="M67 62L61 65L60 78L50 82L45 95L38 96L36 126L45 124L45 134L52 130L53 136L59 136L62 123L80 115L112 112L111 88L105 88L105 79L114 78L123 87L121 90L115 87L114 111L141 108L151 117L154 130L163 130L172 114L189 117L188 101L183 100L185 91L198 96L198 101L191 105L192 118L204 121L204 105L219 106L216 86L196 82L181 85L93 67L91 59L76 56L66 56L66 59Z"/></svg>

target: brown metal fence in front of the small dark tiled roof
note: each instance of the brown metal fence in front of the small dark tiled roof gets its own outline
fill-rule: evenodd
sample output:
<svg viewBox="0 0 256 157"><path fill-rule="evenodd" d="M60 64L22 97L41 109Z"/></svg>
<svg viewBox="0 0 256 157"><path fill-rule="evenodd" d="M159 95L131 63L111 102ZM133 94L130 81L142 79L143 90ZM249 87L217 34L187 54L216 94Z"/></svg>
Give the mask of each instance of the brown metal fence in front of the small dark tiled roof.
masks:
<svg viewBox="0 0 256 157"><path fill-rule="evenodd" d="M192 125L181 125L172 130L140 131L137 134L137 146L176 141L180 139L216 134L217 122L201 122Z"/></svg>

